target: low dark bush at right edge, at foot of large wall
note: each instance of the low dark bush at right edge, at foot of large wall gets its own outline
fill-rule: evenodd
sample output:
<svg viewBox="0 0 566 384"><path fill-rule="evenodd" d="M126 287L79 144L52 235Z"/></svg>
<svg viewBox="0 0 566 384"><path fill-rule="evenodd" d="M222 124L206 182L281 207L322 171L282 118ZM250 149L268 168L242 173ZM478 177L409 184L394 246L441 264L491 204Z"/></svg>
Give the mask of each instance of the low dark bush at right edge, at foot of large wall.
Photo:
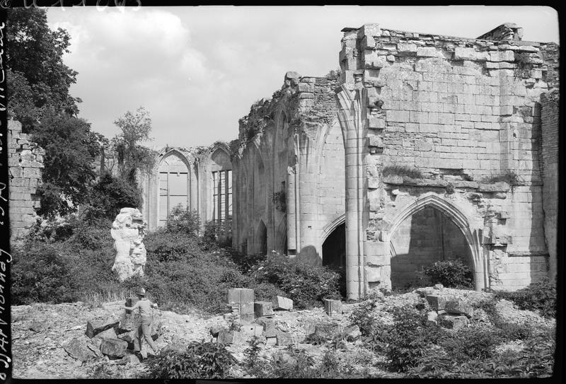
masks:
<svg viewBox="0 0 566 384"><path fill-rule="evenodd" d="M514 292L496 291L496 298L512 301L523 310L538 311L545 318L556 316L556 285L545 278Z"/></svg>

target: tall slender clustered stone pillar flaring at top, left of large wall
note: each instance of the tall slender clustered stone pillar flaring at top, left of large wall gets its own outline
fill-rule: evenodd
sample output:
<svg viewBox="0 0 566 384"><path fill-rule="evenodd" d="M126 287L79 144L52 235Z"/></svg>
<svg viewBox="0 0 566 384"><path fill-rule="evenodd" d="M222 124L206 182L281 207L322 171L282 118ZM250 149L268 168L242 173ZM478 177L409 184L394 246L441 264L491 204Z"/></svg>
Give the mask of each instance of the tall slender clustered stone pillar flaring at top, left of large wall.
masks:
<svg viewBox="0 0 566 384"><path fill-rule="evenodd" d="M346 176L346 291L347 298L357 300L364 296L364 240L363 214L364 185L364 127L366 114L365 91L350 91L342 85L336 97L338 118L344 135Z"/></svg>

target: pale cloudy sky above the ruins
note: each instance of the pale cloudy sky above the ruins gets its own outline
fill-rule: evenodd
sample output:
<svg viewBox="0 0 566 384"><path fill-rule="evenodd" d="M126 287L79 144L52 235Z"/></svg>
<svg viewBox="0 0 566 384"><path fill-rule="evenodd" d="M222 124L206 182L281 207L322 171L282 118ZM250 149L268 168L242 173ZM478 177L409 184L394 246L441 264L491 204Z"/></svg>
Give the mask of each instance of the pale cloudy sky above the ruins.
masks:
<svg viewBox="0 0 566 384"><path fill-rule="evenodd" d="M142 1L143 4L143 1ZM80 117L111 137L114 120L144 106L156 149L238 136L238 119L281 88L286 71L339 68L340 30L384 28L478 37L502 23L523 40L558 41L558 13L533 6L197 6L50 8L71 35L64 61L79 72Z"/></svg>

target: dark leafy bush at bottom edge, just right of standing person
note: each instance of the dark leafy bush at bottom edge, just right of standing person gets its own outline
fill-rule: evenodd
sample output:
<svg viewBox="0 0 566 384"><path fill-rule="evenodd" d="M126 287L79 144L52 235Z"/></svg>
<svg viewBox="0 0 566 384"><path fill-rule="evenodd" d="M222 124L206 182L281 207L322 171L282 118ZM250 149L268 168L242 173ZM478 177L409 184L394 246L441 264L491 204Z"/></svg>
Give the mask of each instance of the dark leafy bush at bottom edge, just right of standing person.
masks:
<svg viewBox="0 0 566 384"><path fill-rule="evenodd" d="M191 342L186 351L165 351L147 361L149 378L230 378L236 359L224 344Z"/></svg>

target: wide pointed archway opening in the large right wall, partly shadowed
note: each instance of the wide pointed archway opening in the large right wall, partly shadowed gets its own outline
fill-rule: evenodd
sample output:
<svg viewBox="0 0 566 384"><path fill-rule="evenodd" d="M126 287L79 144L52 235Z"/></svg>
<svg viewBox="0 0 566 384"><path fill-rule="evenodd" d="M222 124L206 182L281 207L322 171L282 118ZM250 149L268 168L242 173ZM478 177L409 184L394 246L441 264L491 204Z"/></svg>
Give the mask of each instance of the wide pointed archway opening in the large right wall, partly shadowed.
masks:
<svg viewBox="0 0 566 384"><path fill-rule="evenodd" d="M432 206L424 206L403 220L390 245L392 288L429 284L419 272L441 260L461 260L473 273L468 241L454 221Z"/></svg>

